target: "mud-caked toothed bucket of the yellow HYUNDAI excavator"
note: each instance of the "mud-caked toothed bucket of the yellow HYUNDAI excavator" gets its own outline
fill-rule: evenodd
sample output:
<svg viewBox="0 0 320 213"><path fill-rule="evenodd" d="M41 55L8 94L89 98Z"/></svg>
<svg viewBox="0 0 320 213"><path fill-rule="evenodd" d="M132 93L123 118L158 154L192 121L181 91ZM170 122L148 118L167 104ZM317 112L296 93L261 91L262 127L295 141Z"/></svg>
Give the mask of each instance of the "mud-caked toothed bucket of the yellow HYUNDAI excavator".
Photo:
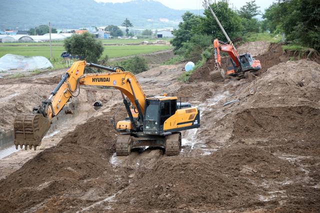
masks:
<svg viewBox="0 0 320 213"><path fill-rule="evenodd" d="M41 144L41 140L50 128L50 121L42 114L18 114L14 120L14 144L18 149L18 145L25 150L35 150Z"/></svg>

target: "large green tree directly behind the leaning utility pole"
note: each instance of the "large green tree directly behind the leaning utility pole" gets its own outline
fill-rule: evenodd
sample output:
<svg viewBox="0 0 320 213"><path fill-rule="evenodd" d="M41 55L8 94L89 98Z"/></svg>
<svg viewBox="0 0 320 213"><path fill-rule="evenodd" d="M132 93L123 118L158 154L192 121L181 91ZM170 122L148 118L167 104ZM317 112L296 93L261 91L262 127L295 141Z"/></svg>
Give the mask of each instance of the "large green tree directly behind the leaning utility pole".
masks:
<svg viewBox="0 0 320 213"><path fill-rule="evenodd" d="M219 8L219 11L215 15L219 19L221 25L223 26L224 30L231 40L241 34L241 19L237 15L237 13L235 13L228 7L228 4L226 2L219 1L216 4L213 3L211 4L211 8L213 10L215 8ZM204 15L205 16L201 17L198 31L207 35L211 35L213 37L218 37L218 39L221 41L226 41L222 30L220 29L209 9L204 10Z"/></svg>

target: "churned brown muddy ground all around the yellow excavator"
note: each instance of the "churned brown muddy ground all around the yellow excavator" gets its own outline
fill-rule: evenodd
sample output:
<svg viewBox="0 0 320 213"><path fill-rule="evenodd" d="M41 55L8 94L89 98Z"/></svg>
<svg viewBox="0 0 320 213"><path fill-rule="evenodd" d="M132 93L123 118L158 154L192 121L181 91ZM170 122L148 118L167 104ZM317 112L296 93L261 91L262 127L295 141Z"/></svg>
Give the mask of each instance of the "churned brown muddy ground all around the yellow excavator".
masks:
<svg viewBox="0 0 320 213"><path fill-rule="evenodd" d="M74 101L78 113L61 116L62 130L47 137L57 145L0 180L0 212L319 212L320 65L274 62L253 81L219 83L180 83L182 67L137 76L147 95L166 92L200 108L201 127L182 132L179 156L139 149L116 157L108 120L118 107L116 120L125 116L120 96L84 88ZM26 93L29 105L48 93L34 79L19 83L34 88ZM96 99L104 103L99 111L90 107ZM0 169L16 155L0 160Z"/></svg>

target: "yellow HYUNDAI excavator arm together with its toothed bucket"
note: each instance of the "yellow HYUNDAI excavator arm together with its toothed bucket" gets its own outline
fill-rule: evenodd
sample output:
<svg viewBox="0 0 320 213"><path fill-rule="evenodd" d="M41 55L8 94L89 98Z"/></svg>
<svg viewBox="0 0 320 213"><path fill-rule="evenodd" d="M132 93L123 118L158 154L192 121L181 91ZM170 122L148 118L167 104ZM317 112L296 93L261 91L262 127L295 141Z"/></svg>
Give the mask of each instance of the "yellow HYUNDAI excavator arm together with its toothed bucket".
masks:
<svg viewBox="0 0 320 213"><path fill-rule="evenodd" d="M100 68L109 72L84 74L85 66ZM145 94L132 73L126 72L120 67L113 68L86 63L85 61L76 61L67 70L49 98L42 101L40 107L34 107L32 114L18 114L16 116L14 120L14 144L16 149L18 145L20 145L20 148L24 145L25 149L27 149L27 146L30 149L33 146L35 150L50 128L52 118L61 112L71 97L78 96L80 85L110 86L120 90L132 126L135 127L135 124L124 96L138 110L139 119L143 120Z"/></svg>

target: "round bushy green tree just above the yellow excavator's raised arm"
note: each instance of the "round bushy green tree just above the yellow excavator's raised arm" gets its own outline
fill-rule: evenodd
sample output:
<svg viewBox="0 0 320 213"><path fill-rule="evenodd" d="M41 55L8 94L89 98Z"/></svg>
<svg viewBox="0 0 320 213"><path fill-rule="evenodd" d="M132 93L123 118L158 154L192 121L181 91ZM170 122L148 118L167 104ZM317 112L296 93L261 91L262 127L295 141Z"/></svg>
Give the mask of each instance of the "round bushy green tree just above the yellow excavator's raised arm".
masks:
<svg viewBox="0 0 320 213"><path fill-rule="evenodd" d="M82 56L86 61L93 63L97 62L103 52L102 42L88 32L65 38L63 45L68 53Z"/></svg>

